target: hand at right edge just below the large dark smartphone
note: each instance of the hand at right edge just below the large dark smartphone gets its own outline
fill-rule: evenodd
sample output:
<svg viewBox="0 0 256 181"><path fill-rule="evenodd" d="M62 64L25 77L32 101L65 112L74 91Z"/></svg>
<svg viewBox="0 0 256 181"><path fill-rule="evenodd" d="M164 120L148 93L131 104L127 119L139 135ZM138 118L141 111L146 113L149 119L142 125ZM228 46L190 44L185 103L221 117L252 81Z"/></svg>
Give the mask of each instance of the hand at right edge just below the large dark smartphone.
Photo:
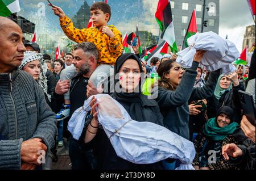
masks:
<svg viewBox="0 0 256 181"><path fill-rule="evenodd" d="M243 118L241 120L241 129L243 133L245 133L245 136L253 141L255 144L255 127L250 123L249 120L247 120L247 117L245 115L243 115Z"/></svg>

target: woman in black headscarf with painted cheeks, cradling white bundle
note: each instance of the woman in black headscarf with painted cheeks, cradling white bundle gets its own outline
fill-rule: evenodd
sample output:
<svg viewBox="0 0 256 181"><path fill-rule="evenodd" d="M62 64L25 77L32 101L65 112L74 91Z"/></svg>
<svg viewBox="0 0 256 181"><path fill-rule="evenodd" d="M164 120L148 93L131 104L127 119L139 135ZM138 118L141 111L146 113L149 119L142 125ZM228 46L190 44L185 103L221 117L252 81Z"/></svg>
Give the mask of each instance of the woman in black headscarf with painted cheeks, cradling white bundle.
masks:
<svg viewBox="0 0 256 181"><path fill-rule="evenodd" d="M163 116L158 104L154 99L147 99L141 92L141 73L143 73L141 62L133 53L125 53L118 57L115 62L115 92L111 95L136 121L150 121L151 123L163 125ZM160 162L139 165L131 163L117 156L108 136L102 129L98 129L96 98L90 103L94 118L88 125L86 137L94 137L98 140L98 164L97 169L162 169ZM98 130L97 130L98 129ZM94 135L93 135L94 134Z"/></svg>

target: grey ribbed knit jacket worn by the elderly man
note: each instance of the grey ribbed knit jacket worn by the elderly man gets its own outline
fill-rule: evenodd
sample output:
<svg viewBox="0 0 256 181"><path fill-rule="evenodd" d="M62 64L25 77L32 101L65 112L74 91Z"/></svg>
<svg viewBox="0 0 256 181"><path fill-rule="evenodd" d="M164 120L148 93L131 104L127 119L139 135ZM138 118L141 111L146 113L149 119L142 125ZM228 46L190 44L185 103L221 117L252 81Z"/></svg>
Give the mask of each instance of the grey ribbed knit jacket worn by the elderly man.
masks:
<svg viewBox="0 0 256 181"><path fill-rule="evenodd" d="M0 74L0 169L20 169L20 146L42 138L55 142L56 117L38 83L24 71Z"/></svg>

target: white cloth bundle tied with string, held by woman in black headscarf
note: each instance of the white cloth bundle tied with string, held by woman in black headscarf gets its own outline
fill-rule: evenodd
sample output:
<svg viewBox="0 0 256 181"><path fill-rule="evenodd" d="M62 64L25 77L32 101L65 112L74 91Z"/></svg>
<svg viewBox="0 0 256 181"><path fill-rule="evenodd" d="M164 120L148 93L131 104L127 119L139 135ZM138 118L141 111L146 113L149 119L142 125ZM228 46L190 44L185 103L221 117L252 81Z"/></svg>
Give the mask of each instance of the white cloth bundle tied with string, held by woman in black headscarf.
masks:
<svg viewBox="0 0 256 181"><path fill-rule="evenodd" d="M158 124L132 120L129 113L108 94L94 95L97 99L98 121L104 128L118 157L137 164L149 164L167 158L180 159L177 170L193 170L193 143ZM79 139L90 100L77 109L68 122L73 138Z"/></svg>

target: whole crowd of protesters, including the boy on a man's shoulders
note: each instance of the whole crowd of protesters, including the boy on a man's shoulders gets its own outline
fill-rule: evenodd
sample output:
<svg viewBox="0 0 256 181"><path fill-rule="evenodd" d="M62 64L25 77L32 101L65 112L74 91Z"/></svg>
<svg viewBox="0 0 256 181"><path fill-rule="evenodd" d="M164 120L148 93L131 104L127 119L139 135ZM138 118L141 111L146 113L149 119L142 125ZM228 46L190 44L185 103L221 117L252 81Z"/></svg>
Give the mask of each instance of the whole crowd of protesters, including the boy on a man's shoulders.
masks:
<svg viewBox="0 0 256 181"><path fill-rule="evenodd" d="M41 54L34 42L23 44L18 25L0 17L0 169L42 169L37 151L57 161L64 137L73 170L179 167L174 158L142 165L118 157L98 123L96 98L79 139L73 137L68 131L73 113L90 96L109 94L131 119L158 124L192 141L195 169L254 170L255 121L253 125L243 115L238 91L252 94L255 106L255 51L250 66L236 65L237 71L229 74L207 71L200 64L205 50L197 50L191 68L177 64L176 54L153 57L148 65L136 46L134 53L123 53L122 34L107 26L108 4L94 3L90 11L96 27L82 30L60 7L52 10L77 43L56 60ZM158 94L151 98L155 87Z"/></svg>

